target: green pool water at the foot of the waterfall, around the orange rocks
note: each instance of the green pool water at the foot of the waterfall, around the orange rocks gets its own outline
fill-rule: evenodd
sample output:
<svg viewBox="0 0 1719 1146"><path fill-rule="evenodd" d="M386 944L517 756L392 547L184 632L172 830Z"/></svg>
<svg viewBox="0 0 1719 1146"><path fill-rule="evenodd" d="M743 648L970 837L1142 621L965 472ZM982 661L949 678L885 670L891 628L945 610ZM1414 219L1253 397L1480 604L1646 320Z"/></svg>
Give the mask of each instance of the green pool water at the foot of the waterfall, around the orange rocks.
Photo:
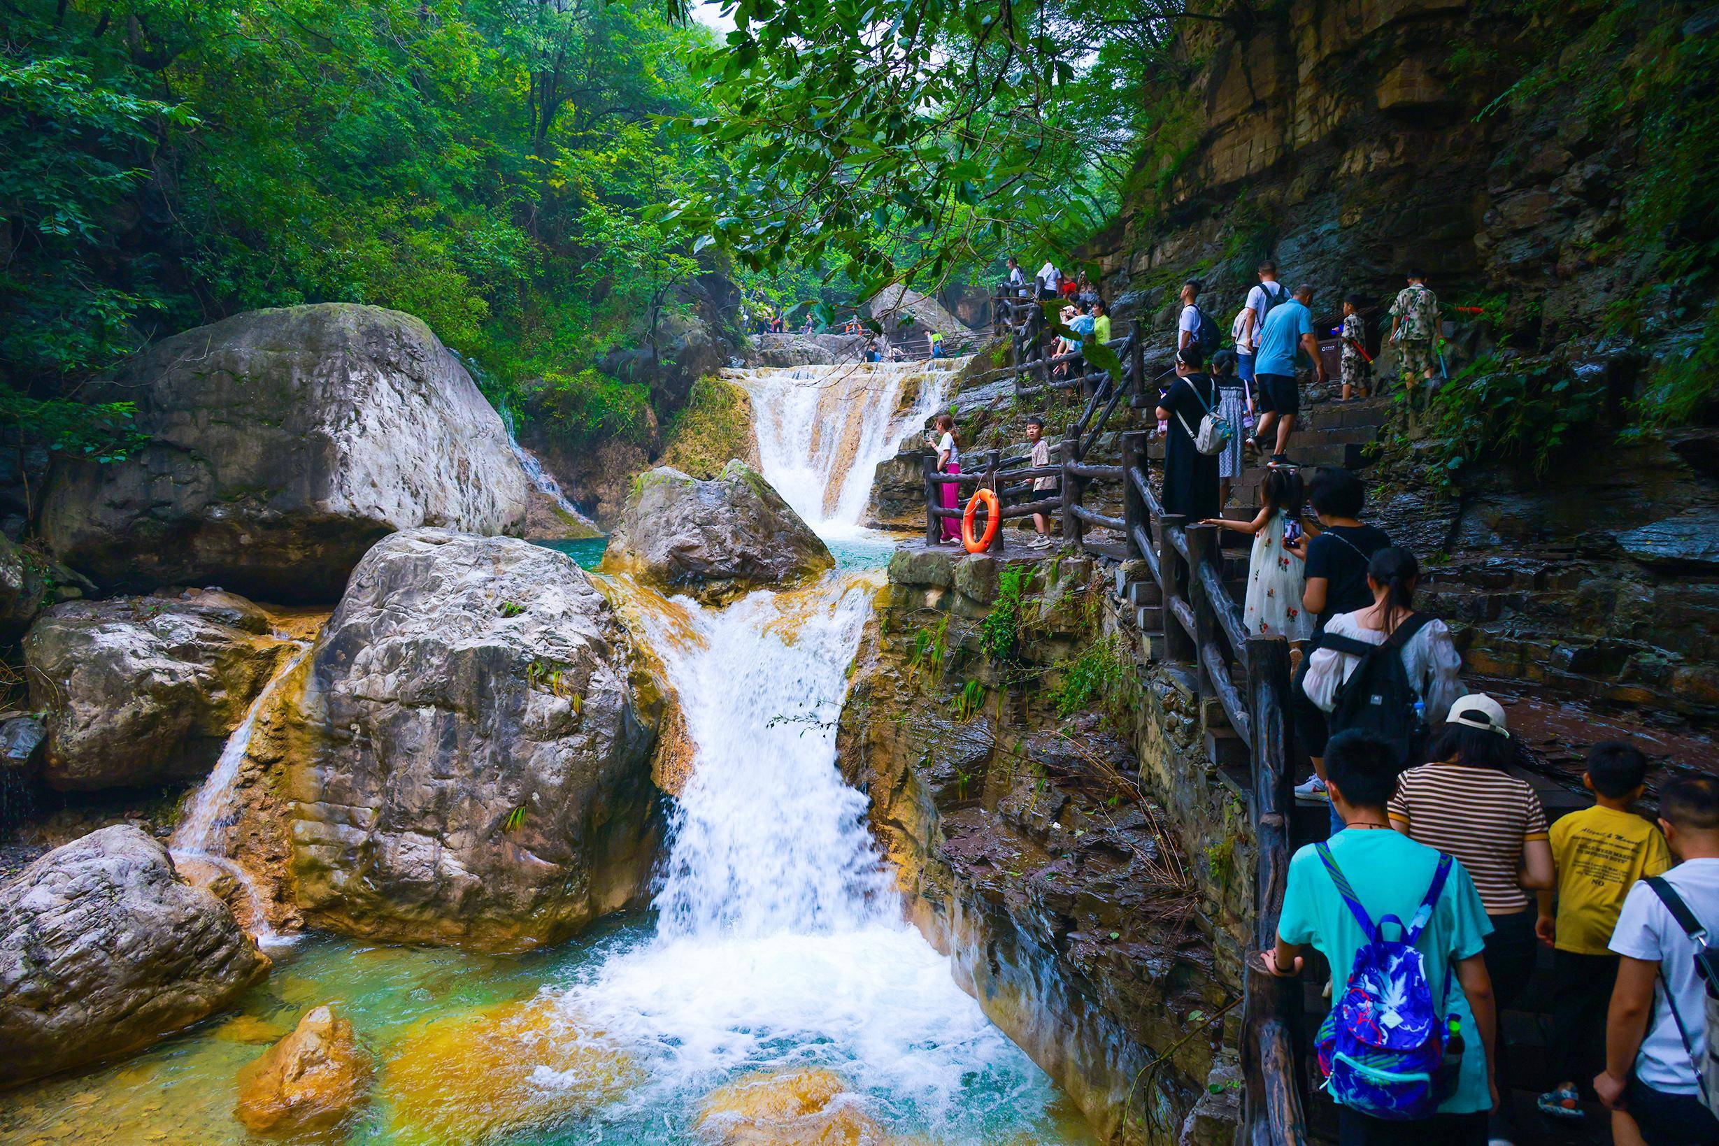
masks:
<svg viewBox="0 0 1719 1146"><path fill-rule="evenodd" d="M885 957L899 952L904 962L920 962L913 950L921 942L911 933L861 938L860 945L865 947L866 942L882 942L882 947L872 955L861 955L861 960L875 960L878 952ZM794 942L789 942L789 948L792 947ZM866 1112L887 1129L889 1136L878 1146L1097 1146L1067 1100L988 1026L975 1022L966 1031L952 1033L957 1045L944 1050L951 1060L968 1062L956 1070L951 1089L937 1101L915 1094L913 1084L894 1089L875 1082L868 1086L863 1070L854 1069L863 1053L842 1046L842 1036L806 1038L804 1031L774 1026L780 1015L772 1015L775 990L770 986L770 960L803 960L808 959L806 950L770 954L765 955L763 967L748 966L737 972L744 978L756 978L760 969L765 972L767 981L756 995L756 1022L732 1022L732 1015L722 1014L708 1027L693 1021L679 1027L677 1034L665 1036L658 1031L652 1036L648 1031L626 1029L624 1019L615 1021L615 1014L633 1007L648 1012L657 998L670 1000L672 1009L698 1009L705 995L722 997L732 990L731 983L724 983L727 969L748 964L758 957L758 950L768 948L770 943L741 943L734 952L717 955L712 967L720 969L698 967L696 954L682 955L672 945L657 942L653 921L643 916L610 919L554 950L509 957L447 948L373 947L311 935L277 952L270 978L222 1015L112 1065L0 1094L0 1141L43 1146L261 1146L280 1141L251 1136L236 1120L239 1070L291 1031L304 1010L337 1003L378 1064L371 1101L356 1122L332 1134L289 1141L349 1146L696 1144L712 1141L698 1132L696 1124L701 1103L715 1086L751 1077L749 1072L756 1069L825 1067L851 1079ZM842 962L841 954L818 955L815 948L808 950L813 960L834 957L842 979L858 974ZM681 997L674 984L677 967L686 967L689 978L701 979L703 986ZM927 972L947 976L945 967L930 962L918 971ZM665 986L660 997L657 984ZM457 1064L445 1072L435 1064L418 1064L428 1069L418 1072L416 1082L423 1088L425 1077L431 1079L431 1089L438 1091L433 1100L445 1105L444 1115L452 1112L447 1117L462 1127L483 1127L490 1119L499 1129L449 1134L437 1125L426 1129L409 1113L402 1119L402 1106L392 1089L394 1064L402 1053L421 1046L413 1038L421 1036L426 1027L435 1029L437 1021L492 1014L509 1003L540 1009L554 1000L572 998L571 1005L581 1007L581 993L593 1000L609 995L621 1000L612 1009L615 1014L605 1015L603 1005L596 1005L593 1022L586 1024L588 1029L598 1021L607 1024L610 1043L624 1048L629 1074L621 1088L605 1091L596 1100L567 1105L560 1088L569 1084L566 1074L578 1074L578 1067L560 1077L550 1070L541 1081L541 1103L545 1112L554 1113L528 1113L521 1122L517 1110L507 1106L509 1100L497 1100L495 1093L485 1093L488 1086L474 1082L474 1077L486 1077L483 1070L474 1076L469 1067L462 1074ZM792 991L787 995L792 997ZM913 990L902 995L911 997ZM789 998L789 1009L803 1003L804 1000ZM882 1010L877 1021L889 1022L890 1002L856 998L856 1003L865 1012L856 1021L872 1021ZM911 1005L909 1000L904 1003ZM581 1024L584 1022L581 1017ZM710 1050L694 1046L701 1041L701 1033L722 1031L724 1026L732 1027L734 1038L744 1043L744 1052L731 1058L719 1052L713 1060L720 1067L715 1072L686 1072L684 1060ZM921 1045L913 1045L909 1053L921 1050ZM541 1046L524 1043L519 1048L523 1058L541 1055ZM920 1069L937 1070L940 1060L932 1052L925 1064L904 1062L909 1072L906 1077L911 1079ZM538 1067L538 1074L543 1072ZM519 1077L512 1082L517 1093ZM528 1081L528 1086L535 1084L535 1079ZM571 1081L571 1086L579 1084L578 1077ZM505 1088L507 1082L499 1081L495 1091ZM524 1106L529 1110L536 1101L535 1094L528 1096ZM502 1115L512 1110L512 1120L486 1105L497 1106Z"/></svg>

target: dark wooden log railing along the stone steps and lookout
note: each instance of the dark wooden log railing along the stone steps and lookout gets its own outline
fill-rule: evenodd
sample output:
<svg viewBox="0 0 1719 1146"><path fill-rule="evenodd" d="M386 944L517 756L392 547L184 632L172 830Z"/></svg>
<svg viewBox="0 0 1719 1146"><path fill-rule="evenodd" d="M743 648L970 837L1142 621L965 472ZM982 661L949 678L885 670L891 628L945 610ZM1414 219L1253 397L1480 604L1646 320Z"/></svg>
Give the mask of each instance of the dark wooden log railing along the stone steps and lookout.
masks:
<svg viewBox="0 0 1719 1146"><path fill-rule="evenodd" d="M1055 514L1064 545L1143 564L1145 581L1157 586L1164 607L1164 660L1193 670L1203 718L1220 720L1248 749L1248 802L1258 857L1253 943L1243 972L1241 1067L1246 1093L1239 1141L1250 1146L1303 1146L1306 1132L1294 1052L1300 993L1293 981L1269 974L1257 957L1275 942L1291 854L1288 644L1282 637L1248 634L1241 603L1224 579L1222 531L1164 512L1148 478L1147 431L1121 435L1121 464L1098 464L1088 457L1121 402L1157 405L1152 385L1157 380L1147 378L1140 323L1126 338L1107 344L1121 361L1116 376L1071 366L1067 376L1059 378L1054 375L1059 363L1085 359L1080 354L1047 354L1043 308L1037 301L999 287L994 316L997 333L1009 337L1009 363L995 375L1012 376L1014 392L1021 397L1078 385L1086 393L1086 405L1061 440L1052 466L1004 462L997 450L990 450L970 455L978 459L973 472L940 474L937 459L927 459L925 539L935 543L942 521L963 514L961 509L940 507L939 493L945 485L957 490L983 486L997 493L1004 521ZM1057 495L1031 491L1030 500L1019 500L1035 478L1055 478ZM1086 505L1088 493L1100 483L1121 486L1121 517ZM1090 527L1121 534L1121 552L1114 545L1090 543ZM1002 550L1004 533L997 529L992 552Z"/></svg>

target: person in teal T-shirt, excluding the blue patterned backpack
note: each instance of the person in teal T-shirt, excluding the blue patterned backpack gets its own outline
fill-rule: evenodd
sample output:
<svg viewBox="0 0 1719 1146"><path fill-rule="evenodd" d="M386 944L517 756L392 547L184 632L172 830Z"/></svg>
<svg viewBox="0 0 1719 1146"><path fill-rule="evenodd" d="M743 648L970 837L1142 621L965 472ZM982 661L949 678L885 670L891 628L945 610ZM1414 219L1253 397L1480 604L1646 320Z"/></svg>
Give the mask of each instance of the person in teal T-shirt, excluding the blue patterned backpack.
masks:
<svg viewBox="0 0 1719 1146"><path fill-rule="evenodd" d="M1386 804L1396 792L1396 775L1391 747L1367 732L1339 732L1325 746L1325 790L1344 823L1327 847L1373 919L1411 919L1439 866L1439 852L1391 828ZM1439 1105L1439 1113L1420 1122L1386 1122L1337 1106L1341 1146L1485 1146L1487 1113L1497 1103L1490 1070L1496 1033L1492 979L1482 959L1489 931L1492 924L1473 880L1461 863L1453 863L1432 919L1415 947L1425 959L1427 983L1434 990L1451 983L1439 1010L1461 1022L1465 1045L1456 1089ZM1298 850L1289 861L1277 947L1262 952L1265 969L1277 976L1300 974L1301 947L1312 943L1331 964L1332 993L1337 995L1355 966L1355 954L1368 938L1332 885L1315 847ZM1447 979L1446 967L1453 962L1454 974Z"/></svg>

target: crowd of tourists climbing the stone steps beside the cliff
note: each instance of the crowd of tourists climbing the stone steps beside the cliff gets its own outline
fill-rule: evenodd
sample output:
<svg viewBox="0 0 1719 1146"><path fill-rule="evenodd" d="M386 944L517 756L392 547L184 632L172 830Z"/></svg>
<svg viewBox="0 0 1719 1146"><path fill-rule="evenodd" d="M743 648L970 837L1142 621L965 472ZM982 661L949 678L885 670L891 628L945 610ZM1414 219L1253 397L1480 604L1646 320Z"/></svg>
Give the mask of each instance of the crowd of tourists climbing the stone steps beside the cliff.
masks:
<svg viewBox="0 0 1719 1146"><path fill-rule="evenodd" d="M1387 338L1413 400L1444 363L1437 297L1423 273L1406 278ZM1009 287L1066 301L1059 354L1109 340L1085 275L1071 280L1047 261L1028 282L1011 258ZM1649 759L1599 744L1581 778L1592 806L1549 823L1516 766L1523 749L1506 708L1468 692L1451 631L1416 608L1415 555L1363 519L1365 486L1351 471L1303 476L1289 457L1298 375L1325 381L1313 289L1288 290L1262 263L1229 345L1200 294L1198 282L1183 287L1174 380L1157 405L1162 505L1253 538L1245 629L1291 643L1291 727L1312 761L1294 794L1327 804L1331 823L1324 842L1294 854L1277 942L1260 959L1294 976L1313 948L1329 967L1332 1009L1315 1050L1341 1146L1513 1143L1504 1100L1520 1050L1501 1015L1523 997L1542 947L1554 1084L1539 1110L1580 1120L1587 1089L1618 1146L1719 1146L1719 955L1707 954L1707 931L1719 928L1719 778L1666 780L1645 818L1635 808ZM1377 387L1365 309L1365 297L1344 297L1332 332L1339 400ZM1301 356L1310 368L1298 369ZM1073 361L1059 369L1080 373ZM939 433L939 460L952 466L947 414ZM1026 438L1030 466L1049 467L1042 418ZM1258 509L1227 521L1220 507L1248 454L1267 459ZM1033 497L1054 486L1035 478ZM1033 545L1049 545L1042 514L1033 527ZM1600 1031L1604 1055L1587 1062Z"/></svg>

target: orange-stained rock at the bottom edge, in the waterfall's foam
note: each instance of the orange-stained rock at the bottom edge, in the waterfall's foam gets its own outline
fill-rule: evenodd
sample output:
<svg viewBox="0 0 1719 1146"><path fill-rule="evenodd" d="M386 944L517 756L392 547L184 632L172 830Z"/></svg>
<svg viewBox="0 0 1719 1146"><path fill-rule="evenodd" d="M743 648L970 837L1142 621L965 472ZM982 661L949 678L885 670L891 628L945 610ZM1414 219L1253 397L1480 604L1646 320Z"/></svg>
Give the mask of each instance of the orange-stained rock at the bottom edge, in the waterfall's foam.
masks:
<svg viewBox="0 0 1719 1146"><path fill-rule="evenodd" d="M720 1146L901 1146L834 1070L770 1070L719 1086L698 1115Z"/></svg>

